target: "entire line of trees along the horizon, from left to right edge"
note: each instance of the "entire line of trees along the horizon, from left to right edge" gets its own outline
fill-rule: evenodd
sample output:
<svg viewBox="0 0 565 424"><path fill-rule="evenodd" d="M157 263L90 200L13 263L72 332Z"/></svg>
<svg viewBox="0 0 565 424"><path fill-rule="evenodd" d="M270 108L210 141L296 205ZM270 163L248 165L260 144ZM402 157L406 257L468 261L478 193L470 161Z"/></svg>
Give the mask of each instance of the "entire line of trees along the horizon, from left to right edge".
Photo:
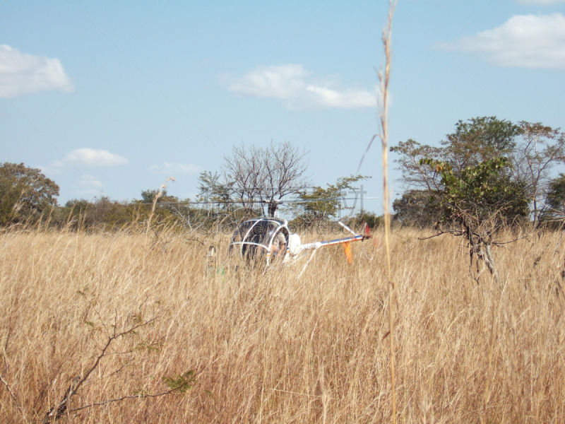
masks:
<svg viewBox="0 0 565 424"><path fill-rule="evenodd" d="M413 139L393 146L400 187L393 202L396 225L439 228L472 220L501 228L523 223L552 223L565 216L565 134L540 123L514 124L496 117L456 123L439 146ZM0 165L0 226L48 220L74 228L122 228L131 223L211 228L256 216L293 216L299 226L317 226L348 214L342 198L359 196L370 177L340 177L326 187L313 186L307 174L308 151L290 142L234 146L218 172L201 172L196 199L179 199L166 187L146 190L141 198L117 201L107 196L71 199L59 206L59 186L23 163ZM286 199L297 203L285 203ZM360 211L353 223L371 227L382 216ZM494 221L493 221L494 219ZM492 227L491 225L491 227ZM487 225L488 226L488 225Z"/></svg>

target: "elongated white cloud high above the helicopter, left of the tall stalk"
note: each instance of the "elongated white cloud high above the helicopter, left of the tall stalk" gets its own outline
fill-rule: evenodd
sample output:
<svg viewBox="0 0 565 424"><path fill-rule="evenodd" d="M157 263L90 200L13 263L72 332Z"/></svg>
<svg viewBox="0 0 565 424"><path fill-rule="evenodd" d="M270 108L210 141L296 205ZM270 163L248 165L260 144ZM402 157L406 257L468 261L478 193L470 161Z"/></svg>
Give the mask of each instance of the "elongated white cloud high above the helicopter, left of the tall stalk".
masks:
<svg viewBox="0 0 565 424"><path fill-rule="evenodd" d="M290 110L376 107L374 92L341 88L335 78L314 81L301 64L263 66L241 78L223 74L220 83L244 97L284 100Z"/></svg>

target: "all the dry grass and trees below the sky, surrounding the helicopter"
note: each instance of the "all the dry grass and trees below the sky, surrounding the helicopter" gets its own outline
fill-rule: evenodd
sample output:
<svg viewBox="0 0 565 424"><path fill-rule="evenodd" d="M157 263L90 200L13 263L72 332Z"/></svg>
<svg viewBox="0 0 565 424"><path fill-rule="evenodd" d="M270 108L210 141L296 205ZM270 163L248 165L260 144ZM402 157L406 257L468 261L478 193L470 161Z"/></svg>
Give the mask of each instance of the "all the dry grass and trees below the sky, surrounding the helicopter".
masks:
<svg viewBox="0 0 565 424"><path fill-rule="evenodd" d="M282 145L292 174L272 144L242 146L196 203L162 186L59 206L40 170L5 163L1 421L562 422L564 144L494 117L399 143L392 230L361 211L353 264L331 247L269 270L227 257L235 223L295 194L302 240L335 237L367 177L307 189L304 151Z"/></svg>

